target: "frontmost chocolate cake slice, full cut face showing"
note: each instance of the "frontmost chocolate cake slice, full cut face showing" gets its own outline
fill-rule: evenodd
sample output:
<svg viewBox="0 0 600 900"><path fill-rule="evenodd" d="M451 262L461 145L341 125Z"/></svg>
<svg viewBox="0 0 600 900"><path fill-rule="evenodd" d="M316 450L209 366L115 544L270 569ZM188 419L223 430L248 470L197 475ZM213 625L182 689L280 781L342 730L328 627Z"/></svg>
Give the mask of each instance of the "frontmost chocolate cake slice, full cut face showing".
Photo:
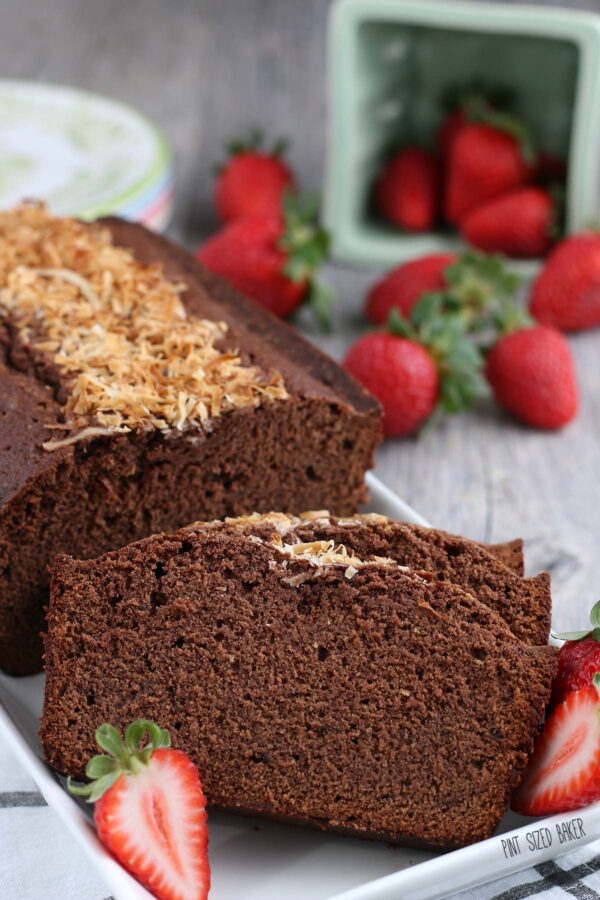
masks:
<svg viewBox="0 0 600 900"><path fill-rule="evenodd" d="M392 560L186 529L57 560L41 739L81 776L101 722L154 719L213 807L450 848L496 827L554 668Z"/></svg>

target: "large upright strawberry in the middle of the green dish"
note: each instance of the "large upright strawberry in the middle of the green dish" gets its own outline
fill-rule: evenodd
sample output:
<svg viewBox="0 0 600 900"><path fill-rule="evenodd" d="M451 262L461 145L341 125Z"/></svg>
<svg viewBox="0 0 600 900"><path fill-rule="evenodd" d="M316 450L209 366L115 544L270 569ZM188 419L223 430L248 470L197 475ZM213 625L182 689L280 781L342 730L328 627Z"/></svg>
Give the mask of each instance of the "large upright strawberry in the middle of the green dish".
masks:
<svg viewBox="0 0 600 900"><path fill-rule="evenodd" d="M444 214L458 224L471 210L531 181L533 166L517 138L485 124L468 124L450 154Z"/></svg>

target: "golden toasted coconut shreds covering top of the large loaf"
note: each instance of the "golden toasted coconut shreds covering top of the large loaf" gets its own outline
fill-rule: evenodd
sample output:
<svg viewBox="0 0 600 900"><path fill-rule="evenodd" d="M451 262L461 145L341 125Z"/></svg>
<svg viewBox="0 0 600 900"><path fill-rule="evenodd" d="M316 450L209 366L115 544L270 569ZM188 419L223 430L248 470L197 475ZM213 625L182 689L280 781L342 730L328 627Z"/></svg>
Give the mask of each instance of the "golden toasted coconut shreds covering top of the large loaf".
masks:
<svg viewBox="0 0 600 900"><path fill-rule="evenodd" d="M229 410L283 400L278 372L219 348L224 322L188 316L182 285L107 230L23 205L0 213L0 317L68 391L67 437L210 428Z"/></svg>

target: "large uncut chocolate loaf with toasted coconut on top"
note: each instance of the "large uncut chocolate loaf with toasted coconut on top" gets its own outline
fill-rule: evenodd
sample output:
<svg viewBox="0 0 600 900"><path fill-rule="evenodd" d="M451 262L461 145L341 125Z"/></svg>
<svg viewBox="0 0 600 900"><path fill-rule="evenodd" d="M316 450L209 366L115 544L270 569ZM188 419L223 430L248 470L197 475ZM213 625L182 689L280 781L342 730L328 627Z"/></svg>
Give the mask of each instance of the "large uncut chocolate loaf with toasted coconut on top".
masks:
<svg viewBox="0 0 600 900"><path fill-rule="evenodd" d="M47 566L198 518L364 499L379 408L138 225L0 213L0 667L41 667Z"/></svg>

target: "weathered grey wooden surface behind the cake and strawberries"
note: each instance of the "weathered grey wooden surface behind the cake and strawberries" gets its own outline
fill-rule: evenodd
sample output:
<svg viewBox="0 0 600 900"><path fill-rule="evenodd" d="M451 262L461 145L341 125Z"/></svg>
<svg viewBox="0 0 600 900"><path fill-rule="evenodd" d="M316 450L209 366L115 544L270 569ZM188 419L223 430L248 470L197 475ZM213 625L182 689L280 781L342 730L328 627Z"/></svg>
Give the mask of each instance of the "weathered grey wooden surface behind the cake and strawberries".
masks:
<svg viewBox="0 0 600 900"><path fill-rule="evenodd" d="M599 9L597 0L571 5ZM0 76L89 88L137 106L173 147L172 234L189 246L215 226L212 165L224 141L258 124L289 135L307 187L321 185L327 0L0 0ZM340 357L361 328L376 273L331 268ZM600 595L600 332L571 340L577 421L558 434L483 405L414 440L389 441L377 474L433 524L482 540L521 535L528 569L549 569L555 624L585 625Z"/></svg>

